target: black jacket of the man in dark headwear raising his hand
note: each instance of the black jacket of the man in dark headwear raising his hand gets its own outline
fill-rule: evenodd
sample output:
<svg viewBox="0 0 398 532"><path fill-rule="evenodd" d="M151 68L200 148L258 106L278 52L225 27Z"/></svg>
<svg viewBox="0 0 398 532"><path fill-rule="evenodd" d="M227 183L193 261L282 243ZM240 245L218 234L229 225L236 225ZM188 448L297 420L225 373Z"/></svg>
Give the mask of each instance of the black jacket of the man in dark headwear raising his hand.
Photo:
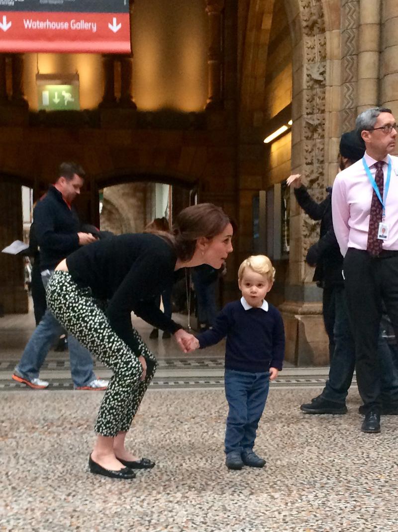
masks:
<svg viewBox="0 0 398 532"><path fill-rule="evenodd" d="M307 255L307 262L316 264L313 280L324 287L342 285L343 256L333 229L332 188L326 189L328 194L321 203L313 200L305 186L294 190L301 209L313 220L321 220L319 240L310 247Z"/></svg>

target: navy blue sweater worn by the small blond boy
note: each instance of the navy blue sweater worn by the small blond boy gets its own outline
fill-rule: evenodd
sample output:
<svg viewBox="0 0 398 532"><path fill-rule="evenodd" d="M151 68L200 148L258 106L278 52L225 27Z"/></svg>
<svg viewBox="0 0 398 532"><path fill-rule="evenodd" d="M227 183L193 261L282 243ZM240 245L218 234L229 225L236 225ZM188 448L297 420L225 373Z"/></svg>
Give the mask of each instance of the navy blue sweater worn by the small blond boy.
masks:
<svg viewBox="0 0 398 532"><path fill-rule="evenodd" d="M197 335L201 349L227 336L225 367L252 373L281 370L284 328L281 314L273 305L245 310L240 301L228 303L213 328Z"/></svg>

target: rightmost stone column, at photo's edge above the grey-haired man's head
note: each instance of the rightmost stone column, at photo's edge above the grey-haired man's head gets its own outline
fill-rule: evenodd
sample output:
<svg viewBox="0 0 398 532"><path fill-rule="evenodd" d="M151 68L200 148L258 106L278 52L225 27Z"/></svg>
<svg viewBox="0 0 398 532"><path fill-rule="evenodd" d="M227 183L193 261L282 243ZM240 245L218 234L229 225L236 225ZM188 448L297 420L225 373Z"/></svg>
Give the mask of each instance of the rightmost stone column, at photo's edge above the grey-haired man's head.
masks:
<svg viewBox="0 0 398 532"><path fill-rule="evenodd" d="M380 64L380 103L398 115L398 3L384 0L382 11L382 54Z"/></svg>

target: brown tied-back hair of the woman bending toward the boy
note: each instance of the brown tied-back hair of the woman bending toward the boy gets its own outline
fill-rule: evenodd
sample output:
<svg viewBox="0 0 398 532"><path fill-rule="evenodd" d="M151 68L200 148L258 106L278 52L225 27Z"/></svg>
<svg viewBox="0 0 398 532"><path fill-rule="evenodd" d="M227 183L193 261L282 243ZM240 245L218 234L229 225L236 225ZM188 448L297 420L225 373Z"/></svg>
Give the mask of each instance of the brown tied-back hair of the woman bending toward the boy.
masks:
<svg viewBox="0 0 398 532"><path fill-rule="evenodd" d="M221 207L212 203L199 203L183 209L171 229L178 258L182 261L192 259L198 238L210 240L219 235L229 223L233 227L229 216Z"/></svg>

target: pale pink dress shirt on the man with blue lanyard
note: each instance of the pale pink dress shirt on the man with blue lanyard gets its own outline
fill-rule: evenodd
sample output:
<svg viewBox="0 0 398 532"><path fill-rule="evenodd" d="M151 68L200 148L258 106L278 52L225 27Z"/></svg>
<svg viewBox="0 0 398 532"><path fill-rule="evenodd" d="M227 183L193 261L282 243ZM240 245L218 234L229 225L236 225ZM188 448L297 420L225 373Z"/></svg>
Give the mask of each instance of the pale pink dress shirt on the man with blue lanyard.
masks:
<svg viewBox="0 0 398 532"><path fill-rule="evenodd" d="M388 238L383 241L383 250L398 251L398 157L391 159L391 181L386 201L385 223L389 226ZM365 153L370 173L375 177L377 162ZM383 167L384 187L387 179L387 164ZM338 174L333 184L333 228L344 256L349 247L366 250L368 242L369 213L373 187L365 172L362 159Z"/></svg>

